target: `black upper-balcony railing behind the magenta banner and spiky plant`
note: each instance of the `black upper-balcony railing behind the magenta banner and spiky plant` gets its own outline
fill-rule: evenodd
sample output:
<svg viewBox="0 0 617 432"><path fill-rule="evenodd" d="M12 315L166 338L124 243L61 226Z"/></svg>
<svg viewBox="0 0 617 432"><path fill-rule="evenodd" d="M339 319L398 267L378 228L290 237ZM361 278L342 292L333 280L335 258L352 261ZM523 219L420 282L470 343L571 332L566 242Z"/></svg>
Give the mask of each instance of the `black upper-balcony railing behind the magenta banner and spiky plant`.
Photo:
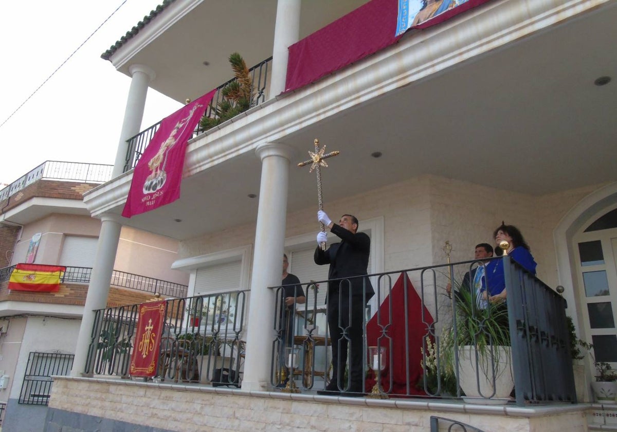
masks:
<svg viewBox="0 0 617 432"><path fill-rule="evenodd" d="M254 65L251 69L249 69L249 73L251 74L251 80L253 83L253 99L251 102L251 107L257 106L260 103L264 102L266 99L266 88L268 86L268 75L270 72L272 57L259 62ZM214 118L217 116L216 107L218 103L222 101L222 89L228 86L233 81L236 81L236 78L232 78L226 83L217 87L217 91L212 98L212 102L210 102L210 106L207 108L205 112L205 117ZM157 130L159 130L160 122L152 125L139 132L137 135L126 140L128 146L126 147L126 158L125 165L122 172L127 172L137 165L137 162L141 155L143 155L144 150L147 145L150 143L152 137ZM201 135L204 133L204 130L201 130L199 127L194 131L193 136Z"/></svg>

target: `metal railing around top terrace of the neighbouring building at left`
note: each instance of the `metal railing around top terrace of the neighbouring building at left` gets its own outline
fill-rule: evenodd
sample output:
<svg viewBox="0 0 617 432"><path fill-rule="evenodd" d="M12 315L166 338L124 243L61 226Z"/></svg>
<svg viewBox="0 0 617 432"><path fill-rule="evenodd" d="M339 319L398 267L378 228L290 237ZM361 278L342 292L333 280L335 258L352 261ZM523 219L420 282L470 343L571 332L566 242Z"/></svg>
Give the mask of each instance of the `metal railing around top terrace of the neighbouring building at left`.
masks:
<svg viewBox="0 0 617 432"><path fill-rule="evenodd" d="M86 183L105 183L112 178L113 165L81 164L79 162L60 162L46 160L43 164L30 170L6 188L0 190L0 201L16 194L38 180L83 181Z"/></svg>

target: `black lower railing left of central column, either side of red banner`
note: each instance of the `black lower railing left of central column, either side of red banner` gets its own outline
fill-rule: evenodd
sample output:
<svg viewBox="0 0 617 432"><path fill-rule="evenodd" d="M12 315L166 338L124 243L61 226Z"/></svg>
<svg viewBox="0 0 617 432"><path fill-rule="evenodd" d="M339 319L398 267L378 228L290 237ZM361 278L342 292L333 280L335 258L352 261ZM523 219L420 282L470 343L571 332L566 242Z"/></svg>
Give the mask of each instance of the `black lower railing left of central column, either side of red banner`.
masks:
<svg viewBox="0 0 617 432"><path fill-rule="evenodd" d="M155 380L239 386L247 291L165 300ZM85 373L129 375L139 305L95 311Z"/></svg>

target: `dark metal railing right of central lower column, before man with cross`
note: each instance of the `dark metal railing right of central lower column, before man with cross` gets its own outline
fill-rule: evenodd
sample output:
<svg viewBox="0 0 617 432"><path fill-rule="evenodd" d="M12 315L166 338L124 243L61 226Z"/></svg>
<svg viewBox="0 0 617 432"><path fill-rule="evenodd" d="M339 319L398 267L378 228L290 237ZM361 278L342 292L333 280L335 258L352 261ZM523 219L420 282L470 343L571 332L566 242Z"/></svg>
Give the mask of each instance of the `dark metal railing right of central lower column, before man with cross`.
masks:
<svg viewBox="0 0 617 432"><path fill-rule="evenodd" d="M471 403L502 397L501 402L507 403L514 387L516 404L521 406L525 401L576 402L565 300L510 257L495 260L503 260L507 307L489 303L481 309L478 298L469 296L465 312L465 299L456 291L460 285L457 281L462 279L463 273L482 262L380 273L365 276L362 282L356 283L352 279L342 280L358 289L370 280L376 292L362 318L362 370L368 378L363 380L361 393L389 397L463 397ZM394 280L398 280L397 283L393 283ZM455 295L448 296L445 288L451 280ZM326 287L328 281L302 284L307 302L294 304L293 308L308 319L298 318L292 323L292 338L280 322L283 288L273 287L277 289L275 310L278 311L273 320L274 330L278 332L272 343L273 386L286 382L283 381L289 373L286 363L291 364L293 359L283 357L281 360L280 357L284 355L284 348L291 346L299 349L292 373L302 379L296 385L302 391L325 388L333 368L326 346L336 344L340 352L342 344L350 339L350 327L341 322L339 326L344 330L340 340L331 338L327 326L321 331L315 328L313 311L321 312L315 294L315 287L319 285ZM364 302L365 298L349 297L347 301ZM341 297L338 304L341 304ZM380 307L375 310L375 305ZM321 320L322 325L324 322ZM457 344L457 341L462 343L465 336L467 345L478 348L476 354L468 357ZM506 341L503 349L494 344L499 338ZM385 354L374 357L378 351L371 351L370 347L384 347ZM471 372L468 372L468 365ZM349 357L339 370L350 370ZM381 372L375 373L375 370ZM349 375L346 372L338 377L339 392L351 388ZM497 395L500 378L504 375L513 380L505 397ZM486 387L481 383L482 377L486 378ZM462 389L463 381L469 394Z"/></svg>

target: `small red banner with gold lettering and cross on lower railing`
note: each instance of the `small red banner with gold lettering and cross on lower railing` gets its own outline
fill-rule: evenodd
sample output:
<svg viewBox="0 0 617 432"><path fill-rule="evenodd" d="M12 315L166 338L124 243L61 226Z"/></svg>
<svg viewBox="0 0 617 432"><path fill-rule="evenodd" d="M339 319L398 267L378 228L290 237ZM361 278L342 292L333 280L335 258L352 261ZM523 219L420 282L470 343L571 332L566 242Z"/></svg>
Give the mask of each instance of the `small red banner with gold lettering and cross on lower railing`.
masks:
<svg viewBox="0 0 617 432"><path fill-rule="evenodd" d="M131 375L156 375L164 322L165 301L144 303L139 306L135 347L131 356Z"/></svg>

